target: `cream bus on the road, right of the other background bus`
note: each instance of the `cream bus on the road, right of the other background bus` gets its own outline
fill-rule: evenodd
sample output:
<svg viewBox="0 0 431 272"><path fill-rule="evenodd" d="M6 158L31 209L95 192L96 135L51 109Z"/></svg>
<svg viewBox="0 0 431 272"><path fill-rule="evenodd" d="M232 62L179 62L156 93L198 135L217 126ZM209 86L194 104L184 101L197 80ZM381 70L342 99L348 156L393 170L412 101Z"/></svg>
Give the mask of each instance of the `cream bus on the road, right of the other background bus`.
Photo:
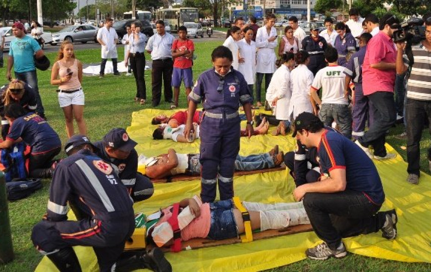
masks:
<svg viewBox="0 0 431 272"><path fill-rule="evenodd" d="M161 8L156 13L157 20L162 20L170 26L172 31L177 31L179 26L184 25L185 22L199 21L199 12L195 7L173 7Z"/></svg>

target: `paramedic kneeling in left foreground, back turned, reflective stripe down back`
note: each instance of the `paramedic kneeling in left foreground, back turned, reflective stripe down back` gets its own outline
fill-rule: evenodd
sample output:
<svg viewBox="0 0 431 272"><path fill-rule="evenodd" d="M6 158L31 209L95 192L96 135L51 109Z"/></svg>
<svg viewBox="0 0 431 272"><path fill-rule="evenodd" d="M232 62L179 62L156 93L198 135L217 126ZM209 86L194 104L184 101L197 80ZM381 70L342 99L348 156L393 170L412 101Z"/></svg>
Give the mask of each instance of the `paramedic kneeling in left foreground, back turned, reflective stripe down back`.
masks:
<svg viewBox="0 0 431 272"><path fill-rule="evenodd" d="M81 271L73 246L92 246L102 272L111 271L135 229L133 201L110 164L97 157L86 136L72 136L64 147L50 188L47 214L33 227L36 248L59 271ZM67 202L82 216L67 220Z"/></svg>

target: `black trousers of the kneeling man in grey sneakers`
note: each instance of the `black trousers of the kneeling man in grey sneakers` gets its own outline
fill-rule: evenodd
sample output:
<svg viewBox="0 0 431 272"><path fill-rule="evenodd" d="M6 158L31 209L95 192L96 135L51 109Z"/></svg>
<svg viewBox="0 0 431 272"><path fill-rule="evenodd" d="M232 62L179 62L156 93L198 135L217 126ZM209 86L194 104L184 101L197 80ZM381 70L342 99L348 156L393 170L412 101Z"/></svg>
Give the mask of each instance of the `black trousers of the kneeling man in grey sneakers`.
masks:
<svg viewBox="0 0 431 272"><path fill-rule="evenodd" d="M306 193L303 203L313 230L331 249L342 237L377 232L385 222L385 213L377 213L381 205L362 192Z"/></svg>

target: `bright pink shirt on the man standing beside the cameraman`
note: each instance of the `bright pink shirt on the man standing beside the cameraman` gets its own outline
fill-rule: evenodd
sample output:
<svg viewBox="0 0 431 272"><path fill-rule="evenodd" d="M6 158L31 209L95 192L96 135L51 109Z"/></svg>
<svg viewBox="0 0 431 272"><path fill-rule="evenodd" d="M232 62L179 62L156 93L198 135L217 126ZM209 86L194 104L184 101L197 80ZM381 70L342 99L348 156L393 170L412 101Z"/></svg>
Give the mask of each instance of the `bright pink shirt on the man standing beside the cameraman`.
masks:
<svg viewBox="0 0 431 272"><path fill-rule="evenodd" d="M395 69L378 70L370 67L371 64L376 64L380 61L388 63L395 63L396 61L396 50L393 46L392 38L381 31L367 45L367 52L362 65L364 95L370 95L376 91L393 92Z"/></svg>

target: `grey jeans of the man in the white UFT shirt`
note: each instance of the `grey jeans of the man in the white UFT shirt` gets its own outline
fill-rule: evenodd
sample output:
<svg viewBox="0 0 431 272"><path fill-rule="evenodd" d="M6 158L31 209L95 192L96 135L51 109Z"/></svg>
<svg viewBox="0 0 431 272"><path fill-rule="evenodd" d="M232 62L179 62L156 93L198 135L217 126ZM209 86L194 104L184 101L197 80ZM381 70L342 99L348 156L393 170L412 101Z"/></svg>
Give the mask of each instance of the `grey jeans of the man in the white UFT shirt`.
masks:
<svg viewBox="0 0 431 272"><path fill-rule="evenodd" d="M340 127L340 132L349 139L352 137L352 114L348 105L322 104L319 118L327 127L331 127L335 120Z"/></svg>

